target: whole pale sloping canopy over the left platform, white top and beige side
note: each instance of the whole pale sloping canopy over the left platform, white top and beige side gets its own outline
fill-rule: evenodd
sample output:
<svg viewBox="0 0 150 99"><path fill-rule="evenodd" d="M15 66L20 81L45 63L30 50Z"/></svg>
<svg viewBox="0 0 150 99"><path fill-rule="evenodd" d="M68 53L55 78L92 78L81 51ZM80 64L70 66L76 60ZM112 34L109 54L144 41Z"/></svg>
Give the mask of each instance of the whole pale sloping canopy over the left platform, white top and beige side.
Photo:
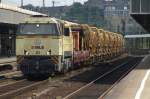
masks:
<svg viewBox="0 0 150 99"><path fill-rule="evenodd" d="M0 3L0 24L19 24L33 15L47 16L42 13L25 10L16 6Z"/></svg>

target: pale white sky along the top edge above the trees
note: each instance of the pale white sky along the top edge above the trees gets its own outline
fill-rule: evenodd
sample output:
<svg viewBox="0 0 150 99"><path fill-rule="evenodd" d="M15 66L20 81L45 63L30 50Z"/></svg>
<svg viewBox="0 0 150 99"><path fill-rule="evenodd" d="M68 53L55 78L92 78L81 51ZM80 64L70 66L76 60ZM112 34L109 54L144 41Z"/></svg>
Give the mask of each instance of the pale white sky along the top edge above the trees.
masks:
<svg viewBox="0 0 150 99"><path fill-rule="evenodd" d="M21 0L2 0L3 3L12 4L12 5L20 5ZM35 6L42 6L43 0L24 0L24 4L33 4ZM55 1L55 6L62 6L62 5L71 5L73 1L84 3L88 0L45 0L46 6L52 6L52 1Z"/></svg>

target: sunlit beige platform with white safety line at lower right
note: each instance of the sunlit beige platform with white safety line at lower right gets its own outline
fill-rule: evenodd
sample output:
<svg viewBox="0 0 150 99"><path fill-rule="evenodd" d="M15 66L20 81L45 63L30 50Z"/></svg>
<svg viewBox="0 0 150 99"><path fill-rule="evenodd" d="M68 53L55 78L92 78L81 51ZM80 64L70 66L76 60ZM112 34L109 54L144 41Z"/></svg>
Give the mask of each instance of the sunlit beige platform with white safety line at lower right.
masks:
<svg viewBox="0 0 150 99"><path fill-rule="evenodd" d="M150 55L145 56L103 99L150 99Z"/></svg>

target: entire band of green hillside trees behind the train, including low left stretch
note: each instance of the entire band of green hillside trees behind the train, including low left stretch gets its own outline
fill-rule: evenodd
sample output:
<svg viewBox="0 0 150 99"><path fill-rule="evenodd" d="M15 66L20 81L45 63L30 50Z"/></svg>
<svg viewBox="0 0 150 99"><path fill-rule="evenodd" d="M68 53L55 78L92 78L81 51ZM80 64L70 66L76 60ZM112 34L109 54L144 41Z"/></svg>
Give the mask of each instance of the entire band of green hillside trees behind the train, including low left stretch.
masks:
<svg viewBox="0 0 150 99"><path fill-rule="evenodd" d="M55 9L55 12L50 10L50 8L42 8L42 7L35 7L31 4L24 6L23 8L26 8L28 10L33 10L37 12L47 13L48 15L56 18L61 18L68 21L73 21L77 23L83 23L83 24L91 24L94 26L100 26L104 27L104 13L103 9L99 9L98 7L92 7L88 5L82 5L81 3L74 3L72 6L68 7L66 12L57 11ZM57 7L56 7L57 8ZM49 12L47 12L49 10Z"/></svg>

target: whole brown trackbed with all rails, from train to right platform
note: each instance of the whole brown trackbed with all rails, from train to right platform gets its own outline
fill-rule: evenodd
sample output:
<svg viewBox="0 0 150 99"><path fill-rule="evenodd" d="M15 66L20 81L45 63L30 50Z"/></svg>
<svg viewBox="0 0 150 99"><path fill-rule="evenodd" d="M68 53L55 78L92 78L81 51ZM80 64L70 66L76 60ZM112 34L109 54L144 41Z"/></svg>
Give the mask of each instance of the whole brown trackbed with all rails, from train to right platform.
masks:
<svg viewBox="0 0 150 99"><path fill-rule="evenodd" d="M133 60L136 61L133 62ZM99 96L104 96L105 94L107 94L107 92L113 86L115 86L115 84L117 84L117 82L122 77L124 77L129 71L134 68L134 66L136 66L135 64L138 62L138 60L140 60L140 58L123 59L122 61L114 62L116 66L113 66L112 64L105 64L105 68L103 66L96 67L94 70L89 69L80 74L75 73L75 76L71 76L71 78L67 76L62 80L62 77L58 77L56 79L54 78L48 83L34 81L30 82L25 80L25 82L23 81L19 84L16 83L3 87L6 91L0 91L0 99L10 96L13 96L15 99L32 99L33 96L35 96L35 99L101 98ZM122 64L123 61L128 62ZM116 77L115 79L112 79L112 77L115 77L116 75L121 75L121 77Z"/></svg>

